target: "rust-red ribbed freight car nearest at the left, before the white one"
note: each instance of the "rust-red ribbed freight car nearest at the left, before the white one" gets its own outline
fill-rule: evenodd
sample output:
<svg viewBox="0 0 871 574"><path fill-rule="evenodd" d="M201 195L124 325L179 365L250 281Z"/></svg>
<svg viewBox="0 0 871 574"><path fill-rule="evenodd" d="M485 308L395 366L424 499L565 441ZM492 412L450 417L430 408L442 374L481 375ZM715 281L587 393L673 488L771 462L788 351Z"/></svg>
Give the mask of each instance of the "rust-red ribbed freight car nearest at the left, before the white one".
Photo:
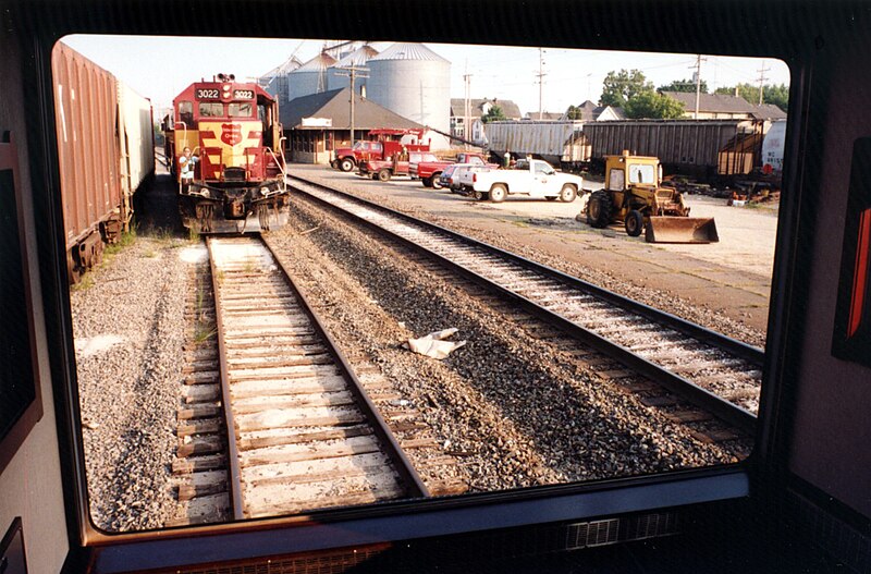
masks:
<svg viewBox="0 0 871 574"><path fill-rule="evenodd" d="M100 225L116 231L121 176L118 91L112 74L59 42L51 54L58 158L71 276L102 251Z"/></svg>

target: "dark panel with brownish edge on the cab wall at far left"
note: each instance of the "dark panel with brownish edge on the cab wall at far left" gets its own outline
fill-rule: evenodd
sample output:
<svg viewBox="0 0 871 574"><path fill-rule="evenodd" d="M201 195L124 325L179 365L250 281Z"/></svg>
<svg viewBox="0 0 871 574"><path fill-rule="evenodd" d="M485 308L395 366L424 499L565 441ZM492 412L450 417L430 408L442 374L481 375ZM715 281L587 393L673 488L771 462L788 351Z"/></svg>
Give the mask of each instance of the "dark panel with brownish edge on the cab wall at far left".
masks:
<svg viewBox="0 0 871 574"><path fill-rule="evenodd" d="M0 225L0 236L5 235L0 242L0 276L3 277L0 283L0 308L8 306L3 313L3 325L15 329L4 328L0 332L0 361L3 364L0 369L0 399L3 403L0 413L4 419L8 418L0 426L0 472L12 461L30 430L42 418L26 228L19 180L17 148L12 134L5 132L0 139L0 207L9 201L7 205L12 212L0 212L0 222L8 218ZM21 277L20 283L8 280L16 274ZM21 329L22 325L26 328ZM25 353L29 361L21 359ZM16 388L22 384L23 389Z"/></svg>

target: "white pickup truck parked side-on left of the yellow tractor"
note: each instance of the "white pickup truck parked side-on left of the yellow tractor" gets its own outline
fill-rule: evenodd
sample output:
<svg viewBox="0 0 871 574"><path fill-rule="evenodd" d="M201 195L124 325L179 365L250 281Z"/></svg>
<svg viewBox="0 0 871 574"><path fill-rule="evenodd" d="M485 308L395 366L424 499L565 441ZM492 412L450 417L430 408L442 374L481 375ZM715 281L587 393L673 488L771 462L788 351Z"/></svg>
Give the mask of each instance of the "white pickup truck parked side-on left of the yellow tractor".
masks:
<svg viewBox="0 0 871 574"><path fill-rule="evenodd" d="M477 199L504 201L508 195L528 195L574 201L584 180L569 173L557 173L550 163L539 159L522 159L513 169L478 169L462 180L466 191Z"/></svg>

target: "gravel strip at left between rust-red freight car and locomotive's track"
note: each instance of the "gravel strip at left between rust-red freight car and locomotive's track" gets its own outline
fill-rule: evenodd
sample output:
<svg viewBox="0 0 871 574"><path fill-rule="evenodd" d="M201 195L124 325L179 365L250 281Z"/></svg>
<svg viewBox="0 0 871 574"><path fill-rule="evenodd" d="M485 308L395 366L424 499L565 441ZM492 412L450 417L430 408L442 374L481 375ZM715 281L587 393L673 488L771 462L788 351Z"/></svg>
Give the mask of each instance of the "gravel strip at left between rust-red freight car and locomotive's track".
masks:
<svg viewBox="0 0 871 574"><path fill-rule="evenodd" d="M182 377L186 266L179 240L139 236L73 290L90 515L98 528L161 527Z"/></svg>

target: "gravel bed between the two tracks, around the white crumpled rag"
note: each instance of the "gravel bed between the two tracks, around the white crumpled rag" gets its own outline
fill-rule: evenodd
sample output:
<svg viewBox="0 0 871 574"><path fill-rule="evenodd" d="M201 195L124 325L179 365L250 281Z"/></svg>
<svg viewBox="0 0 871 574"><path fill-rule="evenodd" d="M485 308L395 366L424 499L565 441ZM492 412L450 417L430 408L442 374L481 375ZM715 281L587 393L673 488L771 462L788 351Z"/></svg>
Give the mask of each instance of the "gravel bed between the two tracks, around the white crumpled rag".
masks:
<svg viewBox="0 0 871 574"><path fill-rule="evenodd" d="M303 201L294 207L292 224L271 235L279 257L340 346L368 354L439 440L463 453L473 491L722 464L745 454L698 442L402 252ZM449 327L469 343L443 362L401 347Z"/></svg>

